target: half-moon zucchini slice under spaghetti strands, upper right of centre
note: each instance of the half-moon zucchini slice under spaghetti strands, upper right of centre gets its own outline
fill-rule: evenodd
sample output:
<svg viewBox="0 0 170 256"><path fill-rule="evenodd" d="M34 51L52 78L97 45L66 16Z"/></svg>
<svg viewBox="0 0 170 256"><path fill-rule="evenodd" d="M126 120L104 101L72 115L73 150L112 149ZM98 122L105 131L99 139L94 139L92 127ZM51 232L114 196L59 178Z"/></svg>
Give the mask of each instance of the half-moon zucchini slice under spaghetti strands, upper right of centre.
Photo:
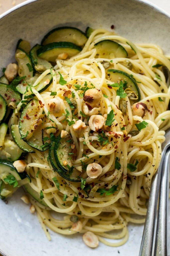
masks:
<svg viewBox="0 0 170 256"><path fill-rule="evenodd" d="M111 40L103 40L94 45L96 48L97 54L99 54L99 58L126 58L128 56L125 48Z"/></svg>

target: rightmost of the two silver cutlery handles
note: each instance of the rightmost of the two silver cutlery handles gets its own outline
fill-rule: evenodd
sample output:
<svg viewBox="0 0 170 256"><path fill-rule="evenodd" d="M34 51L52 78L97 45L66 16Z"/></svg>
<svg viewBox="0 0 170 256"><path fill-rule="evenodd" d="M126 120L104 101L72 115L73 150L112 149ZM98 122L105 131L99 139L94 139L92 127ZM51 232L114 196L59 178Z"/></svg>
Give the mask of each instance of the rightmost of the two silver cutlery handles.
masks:
<svg viewBox="0 0 170 256"><path fill-rule="evenodd" d="M162 176L160 184L159 208L157 217L157 228L155 238L155 256L167 256L167 205L168 205L168 181L169 181L169 156L168 149L162 165Z"/></svg>

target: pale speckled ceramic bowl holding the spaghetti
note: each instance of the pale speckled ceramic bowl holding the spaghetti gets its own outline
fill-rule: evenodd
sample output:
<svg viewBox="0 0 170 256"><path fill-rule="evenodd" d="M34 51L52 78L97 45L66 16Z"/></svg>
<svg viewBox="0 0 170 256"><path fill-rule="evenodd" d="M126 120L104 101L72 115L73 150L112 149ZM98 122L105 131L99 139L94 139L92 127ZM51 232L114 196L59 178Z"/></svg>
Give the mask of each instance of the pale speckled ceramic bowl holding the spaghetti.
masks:
<svg viewBox="0 0 170 256"><path fill-rule="evenodd" d="M30 0L0 16L0 67L14 59L17 40L40 43L43 35L56 26L87 26L106 29L115 26L120 35L133 42L160 45L170 54L170 17L162 10L134 0ZM92 250L79 235L62 236L49 231L49 242L28 206L20 200L22 189L6 205L0 201L0 252L8 256L60 255L138 255L143 226L129 225L129 240L120 248L100 244ZM169 218L170 222L170 218ZM170 252L170 243L168 243Z"/></svg>

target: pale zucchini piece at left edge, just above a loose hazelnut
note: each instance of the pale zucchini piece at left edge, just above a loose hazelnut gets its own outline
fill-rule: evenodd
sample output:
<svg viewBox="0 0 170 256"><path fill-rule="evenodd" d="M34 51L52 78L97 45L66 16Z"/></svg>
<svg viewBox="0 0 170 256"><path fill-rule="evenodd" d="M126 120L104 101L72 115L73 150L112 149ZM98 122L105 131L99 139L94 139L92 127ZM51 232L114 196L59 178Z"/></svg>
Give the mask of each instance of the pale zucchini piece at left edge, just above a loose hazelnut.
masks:
<svg viewBox="0 0 170 256"><path fill-rule="evenodd" d="M4 145L0 150L0 159L16 161L20 158L23 151L18 147L18 145L11 140L5 138Z"/></svg>

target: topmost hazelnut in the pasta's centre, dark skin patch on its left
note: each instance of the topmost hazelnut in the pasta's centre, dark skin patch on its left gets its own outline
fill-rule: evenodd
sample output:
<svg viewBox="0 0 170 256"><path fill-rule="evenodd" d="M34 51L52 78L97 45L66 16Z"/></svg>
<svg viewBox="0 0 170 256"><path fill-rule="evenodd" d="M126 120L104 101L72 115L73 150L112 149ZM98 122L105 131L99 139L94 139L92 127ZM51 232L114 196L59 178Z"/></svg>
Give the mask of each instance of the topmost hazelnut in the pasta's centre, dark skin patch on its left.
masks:
<svg viewBox="0 0 170 256"><path fill-rule="evenodd" d="M90 103L92 108L99 106L101 98L102 98L102 92L100 90L95 89L95 88L88 89L84 93L84 96L83 96L83 100L85 102Z"/></svg>

